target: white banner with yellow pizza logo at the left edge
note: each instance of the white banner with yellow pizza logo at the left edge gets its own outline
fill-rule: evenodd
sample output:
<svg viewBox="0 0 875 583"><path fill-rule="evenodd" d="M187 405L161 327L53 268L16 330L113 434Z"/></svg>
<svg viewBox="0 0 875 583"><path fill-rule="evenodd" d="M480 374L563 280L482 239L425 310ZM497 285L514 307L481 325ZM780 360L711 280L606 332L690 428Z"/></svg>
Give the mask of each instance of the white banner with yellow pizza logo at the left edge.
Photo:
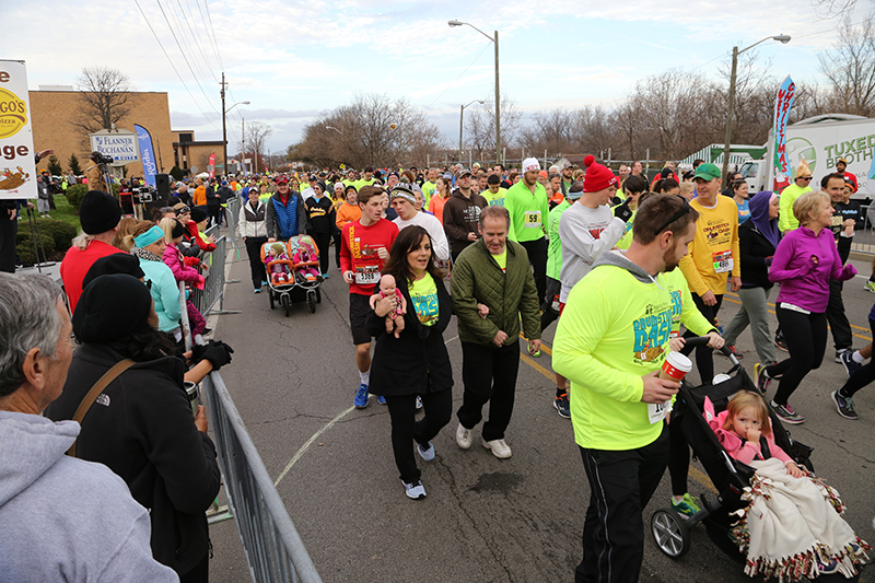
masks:
<svg viewBox="0 0 875 583"><path fill-rule="evenodd" d="M0 60L0 198L36 198L34 133L24 61Z"/></svg>

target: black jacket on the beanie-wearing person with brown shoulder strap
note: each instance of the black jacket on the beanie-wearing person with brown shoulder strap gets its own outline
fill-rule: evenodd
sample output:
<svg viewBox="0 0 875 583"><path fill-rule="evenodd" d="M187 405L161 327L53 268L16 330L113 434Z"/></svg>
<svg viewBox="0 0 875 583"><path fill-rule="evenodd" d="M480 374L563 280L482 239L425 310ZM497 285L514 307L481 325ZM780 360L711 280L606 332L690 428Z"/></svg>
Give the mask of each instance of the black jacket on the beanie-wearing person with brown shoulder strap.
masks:
<svg viewBox="0 0 875 583"><path fill-rule="evenodd" d="M121 359L110 346L83 345L46 417L71 419L94 383ZM195 425L184 372L174 357L136 363L98 395L77 444L79 457L106 464L149 509L154 557L177 573L190 571L209 551L205 512L220 485L215 447Z"/></svg>

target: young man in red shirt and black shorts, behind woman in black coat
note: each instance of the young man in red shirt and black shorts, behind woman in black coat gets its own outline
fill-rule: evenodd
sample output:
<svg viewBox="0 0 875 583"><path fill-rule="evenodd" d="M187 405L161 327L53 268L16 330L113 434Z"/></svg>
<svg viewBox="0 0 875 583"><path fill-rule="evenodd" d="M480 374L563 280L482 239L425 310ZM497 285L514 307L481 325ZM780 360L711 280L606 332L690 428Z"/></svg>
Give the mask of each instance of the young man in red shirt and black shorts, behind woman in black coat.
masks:
<svg viewBox="0 0 875 583"><path fill-rule="evenodd" d="M398 236L398 228L383 219L383 189L363 186L358 195L362 218L343 225L340 235L340 270L349 283L349 325L355 345L355 364L361 384L355 392L355 407L368 407L371 383L371 335L364 318L371 311L369 300L380 283L381 271L389 258L389 248ZM380 397L380 403L386 400Z"/></svg>

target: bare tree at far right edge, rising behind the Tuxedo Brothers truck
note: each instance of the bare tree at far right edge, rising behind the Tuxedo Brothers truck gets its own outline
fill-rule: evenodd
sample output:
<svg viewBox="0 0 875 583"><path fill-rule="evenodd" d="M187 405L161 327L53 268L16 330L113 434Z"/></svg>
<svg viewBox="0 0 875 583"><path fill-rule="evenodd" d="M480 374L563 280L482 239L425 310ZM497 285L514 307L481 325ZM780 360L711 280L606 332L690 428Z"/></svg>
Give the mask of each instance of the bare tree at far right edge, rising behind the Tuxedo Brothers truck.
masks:
<svg viewBox="0 0 875 583"><path fill-rule="evenodd" d="M820 71L829 80L832 104L847 114L875 114L875 25L870 18L851 26L845 15L842 33L829 53L817 56Z"/></svg>

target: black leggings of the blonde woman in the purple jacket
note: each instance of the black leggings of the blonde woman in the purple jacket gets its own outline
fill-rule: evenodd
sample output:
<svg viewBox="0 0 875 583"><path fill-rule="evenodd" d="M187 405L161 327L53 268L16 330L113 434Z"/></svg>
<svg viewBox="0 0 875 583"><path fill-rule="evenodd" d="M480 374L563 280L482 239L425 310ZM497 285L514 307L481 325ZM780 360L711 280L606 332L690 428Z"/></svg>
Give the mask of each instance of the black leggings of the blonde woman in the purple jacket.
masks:
<svg viewBox="0 0 875 583"><path fill-rule="evenodd" d="M800 386L809 371L820 366L827 347L827 315L802 314L794 310L785 310L778 305L775 313L790 358L765 369L766 374L774 378L781 376L774 403L786 405L790 395Z"/></svg>

